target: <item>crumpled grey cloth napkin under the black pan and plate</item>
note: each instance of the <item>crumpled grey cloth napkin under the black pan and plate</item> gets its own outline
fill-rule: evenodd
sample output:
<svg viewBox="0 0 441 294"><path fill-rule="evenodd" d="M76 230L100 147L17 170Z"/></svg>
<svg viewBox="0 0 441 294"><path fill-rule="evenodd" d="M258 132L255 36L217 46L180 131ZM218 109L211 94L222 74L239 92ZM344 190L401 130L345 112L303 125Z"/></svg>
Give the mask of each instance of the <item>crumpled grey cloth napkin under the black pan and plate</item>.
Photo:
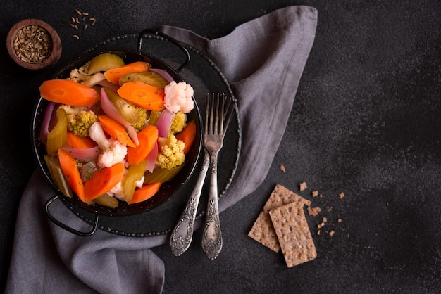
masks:
<svg viewBox="0 0 441 294"><path fill-rule="evenodd" d="M240 169L221 198L221 211L265 179L285 132L316 23L315 8L289 6L219 39L178 27L161 28L206 53L230 82L238 101ZM254 140L261 137L266 139ZM44 215L42 206L52 195L42 173L36 171L20 200L6 293L161 293L164 265L149 248L166 243L168 236L130 238L101 230L89 237L70 234ZM88 228L73 213L63 215L63 222L79 230Z"/></svg>

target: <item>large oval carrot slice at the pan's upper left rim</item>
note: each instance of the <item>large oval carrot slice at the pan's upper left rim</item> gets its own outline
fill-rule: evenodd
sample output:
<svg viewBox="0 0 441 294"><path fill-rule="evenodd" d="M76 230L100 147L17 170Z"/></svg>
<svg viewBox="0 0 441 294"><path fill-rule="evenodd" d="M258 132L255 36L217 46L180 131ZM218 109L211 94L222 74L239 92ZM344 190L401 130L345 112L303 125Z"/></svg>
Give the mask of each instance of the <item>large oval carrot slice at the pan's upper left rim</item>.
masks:
<svg viewBox="0 0 441 294"><path fill-rule="evenodd" d="M39 91L46 100L71 106L93 106L99 99L97 91L71 79L49 79Z"/></svg>

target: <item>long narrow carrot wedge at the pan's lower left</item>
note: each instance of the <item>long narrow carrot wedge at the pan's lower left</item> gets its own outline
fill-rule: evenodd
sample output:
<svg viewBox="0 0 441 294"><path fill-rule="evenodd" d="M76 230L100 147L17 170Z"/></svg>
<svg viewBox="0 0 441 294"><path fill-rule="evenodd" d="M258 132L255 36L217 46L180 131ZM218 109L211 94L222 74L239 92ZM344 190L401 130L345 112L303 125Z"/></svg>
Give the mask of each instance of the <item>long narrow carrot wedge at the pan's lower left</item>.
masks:
<svg viewBox="0 0 441 294"><path fill-rule="evenodd" d="M72 188L82 202L89 203L85 198L85 187L82 184L80 171L77 168L77 160L61 148L58 149L58 160L60 160L61 170L70 188Z"/></svg>

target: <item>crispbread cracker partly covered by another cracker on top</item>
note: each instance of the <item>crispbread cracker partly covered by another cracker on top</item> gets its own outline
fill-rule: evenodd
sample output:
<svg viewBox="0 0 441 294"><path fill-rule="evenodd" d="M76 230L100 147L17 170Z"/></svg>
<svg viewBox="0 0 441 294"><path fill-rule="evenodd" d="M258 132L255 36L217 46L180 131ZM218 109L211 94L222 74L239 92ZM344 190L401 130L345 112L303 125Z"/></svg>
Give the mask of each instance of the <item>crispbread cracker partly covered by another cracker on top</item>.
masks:
<svg viewBox="0 0 441 294"><path fill-rule="evenodd" d="M248 236L270 248L274 252L279 252L280 245L274 231L273 223L271 222L269 211L288 203L296 203L300 207L311 205L311 201L306 200L284 186L277 184L271 193L271 196L266 201L266 204L263 207L263 212L260 213L256 222L254 222L254 225L251 227Z"/></svg>

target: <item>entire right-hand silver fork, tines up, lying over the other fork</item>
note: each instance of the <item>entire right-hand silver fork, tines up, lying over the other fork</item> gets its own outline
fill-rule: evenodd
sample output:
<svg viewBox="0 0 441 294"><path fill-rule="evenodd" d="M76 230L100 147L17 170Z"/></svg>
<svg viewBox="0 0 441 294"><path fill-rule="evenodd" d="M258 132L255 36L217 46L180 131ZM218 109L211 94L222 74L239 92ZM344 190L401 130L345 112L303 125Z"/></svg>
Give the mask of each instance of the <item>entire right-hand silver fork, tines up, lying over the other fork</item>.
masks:
<svg viewBox="0 0 441 294"><path fill-rule="evenodd" d="M222 250L221 222L218 208L218 153L234 112L235 100L225 94L207 94L204 148L210 155L210 193L206 222L202 235L202 249L211 260Z"/></svg>

